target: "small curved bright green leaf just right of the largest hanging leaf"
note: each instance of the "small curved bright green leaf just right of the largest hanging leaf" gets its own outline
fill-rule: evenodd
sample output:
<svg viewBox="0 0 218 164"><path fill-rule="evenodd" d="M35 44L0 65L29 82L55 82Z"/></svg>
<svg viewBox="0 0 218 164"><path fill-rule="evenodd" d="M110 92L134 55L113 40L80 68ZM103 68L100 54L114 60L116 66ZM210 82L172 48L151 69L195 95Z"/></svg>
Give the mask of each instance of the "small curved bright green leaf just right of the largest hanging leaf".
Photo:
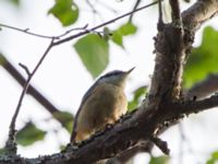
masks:
<svg viewBox="0 0 218 164"><path fill-rule="evenodd" d="M121 25L118 30L112 32L112 40L117 45L124 48L123 36L135 34L136 31L137 31L137 27L134 24L128 22L128 23Z"/></svg>

